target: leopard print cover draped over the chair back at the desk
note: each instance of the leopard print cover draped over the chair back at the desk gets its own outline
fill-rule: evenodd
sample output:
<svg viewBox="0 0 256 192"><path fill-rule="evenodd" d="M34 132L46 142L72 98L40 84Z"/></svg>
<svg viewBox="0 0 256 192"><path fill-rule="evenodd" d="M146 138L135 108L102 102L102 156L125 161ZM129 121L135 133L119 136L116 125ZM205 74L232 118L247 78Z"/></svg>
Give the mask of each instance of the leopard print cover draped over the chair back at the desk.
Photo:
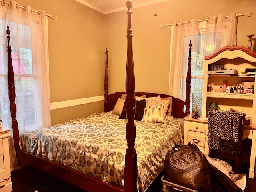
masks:
<svg viewBox="0 0 256 192"><path fill-rule="evenodd" d="M209 148L240 154L245 113L232 110L208 110Z"/></svg>

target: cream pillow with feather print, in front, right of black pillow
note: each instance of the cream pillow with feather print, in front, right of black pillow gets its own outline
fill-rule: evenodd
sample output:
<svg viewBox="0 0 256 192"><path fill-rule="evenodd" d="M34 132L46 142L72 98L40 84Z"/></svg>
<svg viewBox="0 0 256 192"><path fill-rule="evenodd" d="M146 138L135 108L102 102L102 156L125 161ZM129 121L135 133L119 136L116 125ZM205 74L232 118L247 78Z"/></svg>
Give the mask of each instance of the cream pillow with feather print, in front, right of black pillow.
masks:
<svg viewBox="0 0 256 192"><path fill-rule="evenodd" d="M141 121L143 122L157 122L163 123L163 105L157 104L156 106L148 106L144 110L144 115Z"/></svg>

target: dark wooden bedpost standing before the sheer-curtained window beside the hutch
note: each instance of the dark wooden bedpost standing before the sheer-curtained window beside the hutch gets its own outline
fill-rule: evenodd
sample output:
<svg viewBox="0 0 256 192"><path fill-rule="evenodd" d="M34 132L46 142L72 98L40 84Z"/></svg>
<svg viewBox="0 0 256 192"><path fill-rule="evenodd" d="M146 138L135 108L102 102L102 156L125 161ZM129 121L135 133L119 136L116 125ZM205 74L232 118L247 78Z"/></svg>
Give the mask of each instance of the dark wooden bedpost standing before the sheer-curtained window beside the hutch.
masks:
<svg viewBox="0 0 256 192"><path fill-rule="evenodd" d="M190 108L190 88L191 88L191 40L189 43L189 54L188 54L188 72L187 72L187 79L186 79L186 114L189 114L189 108Z"/></svg>

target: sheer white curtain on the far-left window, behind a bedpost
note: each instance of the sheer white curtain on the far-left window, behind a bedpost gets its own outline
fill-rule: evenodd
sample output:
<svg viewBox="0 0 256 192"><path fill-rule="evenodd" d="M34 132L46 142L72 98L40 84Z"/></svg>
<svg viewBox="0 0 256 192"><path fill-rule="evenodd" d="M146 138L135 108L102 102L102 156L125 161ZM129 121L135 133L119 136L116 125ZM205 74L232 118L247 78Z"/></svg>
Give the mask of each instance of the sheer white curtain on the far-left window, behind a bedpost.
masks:
<svg viewBox="0 0 256 192"><path fill-rule="evenodd" d="M0 118L4 128L12 128L8 97L6 29L10 29L16 104L20 134L50 126L50 88L46 15L0 4ZM12 131L10 132L11 170L18 168Z"/></svg>

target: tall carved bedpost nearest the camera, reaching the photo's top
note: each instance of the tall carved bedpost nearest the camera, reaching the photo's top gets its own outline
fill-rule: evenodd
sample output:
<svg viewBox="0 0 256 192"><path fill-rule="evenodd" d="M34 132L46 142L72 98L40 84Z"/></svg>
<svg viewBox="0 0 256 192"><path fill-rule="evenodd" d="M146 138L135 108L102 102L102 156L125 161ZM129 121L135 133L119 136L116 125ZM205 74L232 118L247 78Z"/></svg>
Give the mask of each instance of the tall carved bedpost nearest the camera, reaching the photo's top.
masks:
<svg viewBox="0 0 256 192"><path fill-rule="evenodd" d="M125 168L124 168L124 191L137 192L137 154L135 145L136 125L135 118L135 77L134 77L134 64L132 54L132 19L131 8L132 1L126 2L128 8L128 22L127 22L127 61L126 61L126 140L128 148L125 155Z"/></svg>

